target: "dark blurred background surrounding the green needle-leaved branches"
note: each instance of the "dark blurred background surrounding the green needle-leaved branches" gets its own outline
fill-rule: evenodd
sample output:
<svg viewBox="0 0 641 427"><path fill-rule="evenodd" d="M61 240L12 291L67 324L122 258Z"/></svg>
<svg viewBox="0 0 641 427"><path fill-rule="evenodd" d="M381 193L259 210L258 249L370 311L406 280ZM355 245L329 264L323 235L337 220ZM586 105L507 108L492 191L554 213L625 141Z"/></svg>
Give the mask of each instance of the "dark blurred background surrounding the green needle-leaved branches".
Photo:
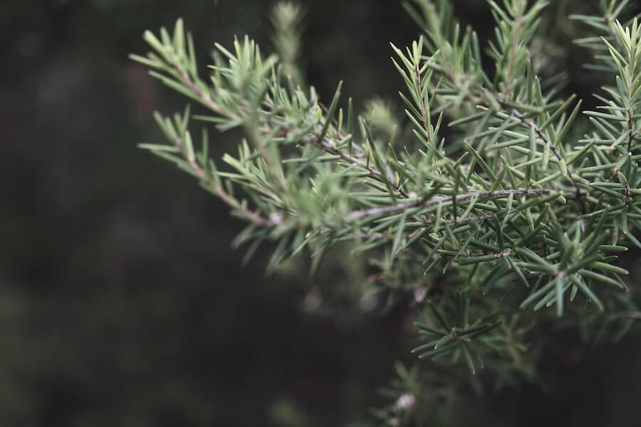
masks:
<svg viewBox="0 0 641 427"><path fill-rule="evenodd" d="M387 43L417 35L399 2L303 3L308 80L323 99L341 79L356 105L396 99ZM484 2L464 3L462 19L488 34ZM382 402L392 363L411 360L401 314L311 316L308 292L331 279L266 277L266 253L241 268L231 241L242 223L136 147L161 139L153 110L184 105L127 60L147 51L142 32L184 17L204 69L214 41L234 34L269 51L270 7L0 3L0 425L358 426ZM220 137L216 156L237 136ZM641 425L640 351L639 337L573 358L546 351L548 389L489 394L464 410L491 426Z"/></svg>

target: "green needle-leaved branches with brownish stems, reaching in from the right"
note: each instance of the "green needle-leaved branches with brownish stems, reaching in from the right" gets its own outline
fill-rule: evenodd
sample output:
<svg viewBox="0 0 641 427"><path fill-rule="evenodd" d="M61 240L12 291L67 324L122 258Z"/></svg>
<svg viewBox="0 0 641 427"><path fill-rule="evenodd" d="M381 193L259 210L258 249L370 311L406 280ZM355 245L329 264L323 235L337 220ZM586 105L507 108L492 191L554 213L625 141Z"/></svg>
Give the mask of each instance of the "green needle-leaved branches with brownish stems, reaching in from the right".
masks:
<svg viewBox="0 0 641 427"><path fill-rule="evenodd" d="M174 31L174 41L167 40L165 31L162 43L146 36L164 60L136 59L167 73L169 77L156 76L214 112L208 118L220 130L244 127L254 142L241 143L237 157L226 154L224 161L234 172L217 172L214 164L206 170L206 153L199 153L196 161L192 147L187 144L185 153L185 141L173 138L174 133L184 133L187 120L176 120L180 132L171 123L160 123L186 161L187 167L182 160L179 166L189 169L250 224L239 241L277 241L269 270L303 248L313 254L315 270L330 247L348 242L355 251L372 255L372 268L379 271L376 283L370 280L368 286L390 295L388 304L403 304L408 292L415 295L416 283L433 283L436 295L429 306L433 322L417 322L426 342L417 347L421 357L452 357L452 367L463 360L475 373L481 355L489 357L490 365L503 366L501 357L508 354L511 362L518 360L515 369L529 369L528 353L516 345L526 342L524 334L515 332L522 323L507 325L516 305L496 297L496 292L520 295L521 308L536 311L556 305L558 316L564 305L583 295L586 304L572 307L584 315L582 322L597 310L622 306L613 292L625 288L622 275L627 271L614 264L612 254L625 251L628 243L641 246L632 236L641 228L641 177L637 156L630 154L641 129L635 115L641 79L638 65L631 63L639 57L640 49L634 46L641 46L640 32L637 23L630 30L618 21L611 22L612 28L607 23L608 30L602 21L595 25L615 38L617 47L606 40L600 51L610 51L608 66L619 81L617 87L605 89L610 100L602 97L608 112L594 112L589 123L581 123L587 129L586 139L563 144L564 135L573 135L567 132L580 117L580 103L566 118L572 99L556 100L554 89L541 88L538 75L547 70L538 68L541 61L531 61L528 54L546 1L506 0L504 9L490 1L497 21L496 43L489 46L496 63L494 82L484 72L476 33L466 30L461 37L461 27L452 19L452 2L414 1L425 12L414 17L427 36L412 43L407 56L393 47L400 58L394 60L395 67L410 91L402 100L411 120L405 135L413 139L403 141L410 147L404 152L388 146L379 132L372 136L369 130L375 128L367 119L360 122L367 152L361 148L353 132L356 121L349 118L348 130L343 130L342 111L337 110L340 90L328 108L318 102L313 89L306 92L283 83L283 70L296 66L298 43L290 45L296 55L280 64L271 57L263 61L249 39L234 43L235 53L217 45L219 53L229 58L229 66L215 58L213 88L195 75L191 51L180 48L180 31ZM278 21L298 22L296 16L284 17ZM424 46L431 56L422 55ZM433 74L439 83L432 83ZM349 111L352 117L351 107ZM435 115L439 118L433 124ZM467 126L462 135L458 130L446 135L446 146L439 130L450 115L457 119L450 122L452 127L475 125ZM556 120L558 135L552 125ZM412 142L421 149L412 152ZM460 142L467 152L454 159ZM543 152L538 149L541 142L546 147ZM349 152L344 149L347 144ZM385 155L382 144L389 147ZM352 147L357 150L354 154ZM283 157L288 158L281 161ZM561 173L549 173L548 159L556 159ZM273 179L275 174L282 185ZM256 211L233 196L236 186L249 194ZM408 188L419 195L408 193ZM397 202L399 195L403 199ZM269 212L274 214L264 218ZM415 302L422 303L427 292L415 296ZM620 317L635 310L625 305ZM541 315L527 312L523 317L532 320ZM402 374L411 376L407 371ZM406 391L400 397L407 398ZM413 404L408 406L407 401L400 399L394 411L408 410Z"/></svg>

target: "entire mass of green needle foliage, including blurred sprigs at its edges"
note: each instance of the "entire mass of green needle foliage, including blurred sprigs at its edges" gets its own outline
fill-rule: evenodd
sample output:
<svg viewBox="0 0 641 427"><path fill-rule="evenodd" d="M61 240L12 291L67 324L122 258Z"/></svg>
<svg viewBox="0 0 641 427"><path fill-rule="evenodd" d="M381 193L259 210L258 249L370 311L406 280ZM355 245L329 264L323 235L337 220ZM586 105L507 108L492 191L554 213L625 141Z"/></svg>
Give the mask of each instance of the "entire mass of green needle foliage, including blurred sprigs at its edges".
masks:
<svg viewBox="0 0 641 427"><path fill-rule="evenodd" d="M605 83L588 111L563 95L566 78L536 47L541 26L551 26L541 15L556 6L489 0L496 27L482 42L452 3L403 4L422 33L412 46L391 46L406 86L402 120L377 99L358 115L340 83L320 102L299 65L302 11L293 4L273 9L277 56L248 37L217 43L207 79L181 20L173 33L145 33L152 52L132 56L207 110L156 113L167 143L142 148L246 221L234 241L249 246L246 260L269 241L269 272L295 255L311 258L315 272L348 246L370 258L376 295L415 313L413 352L433 364L397 365L384 391L390 405L375 411L392 425L424 421L454 399L456 384L481 386L473 376L481 368L496 386L533 379L531 332L543 322L603 342L641 313L617 265L620 253L641 248L641 29L632 2L601 0L594 15L570 16L583 33L578 46L595 53L586 69ZM237 152L210 158L207 130L196 142L192 120L239 128Z"/></svg>

